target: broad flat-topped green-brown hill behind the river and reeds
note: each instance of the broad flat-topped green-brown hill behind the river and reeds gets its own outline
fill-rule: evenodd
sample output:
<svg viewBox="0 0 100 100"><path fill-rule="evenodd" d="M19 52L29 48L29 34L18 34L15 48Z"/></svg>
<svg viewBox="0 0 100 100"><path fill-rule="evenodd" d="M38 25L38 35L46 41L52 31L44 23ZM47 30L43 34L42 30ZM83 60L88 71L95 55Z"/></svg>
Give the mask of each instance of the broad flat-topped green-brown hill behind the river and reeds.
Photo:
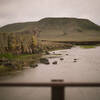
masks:
<svg viewBox="0 0 100 100"><path fill-rule="evenodd" d="M0 28L0 32L39 31L39 39L52 41L100 41L100 26L88 19L44 18L37 22L15 23Z"/></svg>

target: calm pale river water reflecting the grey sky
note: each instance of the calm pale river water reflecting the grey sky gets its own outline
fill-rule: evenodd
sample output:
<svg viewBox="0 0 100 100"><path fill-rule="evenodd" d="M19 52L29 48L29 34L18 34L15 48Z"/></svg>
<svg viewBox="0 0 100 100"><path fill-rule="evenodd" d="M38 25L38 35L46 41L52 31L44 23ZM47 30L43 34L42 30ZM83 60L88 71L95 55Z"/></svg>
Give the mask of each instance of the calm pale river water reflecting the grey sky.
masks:
<svg viewBox="0 0 100 100"><path fill-rule="evenodd" d="M51 52L52 54L52 52ZM56 51L60 58L49 58L50 65L39 64L13 76L0 77L1 82L100 82L100 47L74 47ZM66 55L68 54L68 55ZM73 62L78 59L77 62ZM53 61L58 61L53 65ZM50 100L50 88L0 88L0 100ZM100 100L100 88L66 88L66 100Z"/></svg>

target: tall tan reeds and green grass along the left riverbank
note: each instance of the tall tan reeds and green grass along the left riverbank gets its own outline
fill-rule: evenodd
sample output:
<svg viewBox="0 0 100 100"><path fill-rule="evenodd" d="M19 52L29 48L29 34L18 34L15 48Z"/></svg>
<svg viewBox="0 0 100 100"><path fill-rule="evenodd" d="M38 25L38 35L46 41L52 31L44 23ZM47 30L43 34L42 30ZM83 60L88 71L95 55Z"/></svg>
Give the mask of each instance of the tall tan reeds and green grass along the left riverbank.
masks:
<svg viewBox="0 0 100 100"><path fill-rule="evenodd" d="M37 67L42 55L72 45L38 40L37 33L0 33L0 75ZM44 59L45 60L45 59ZM43 62L43 61L42 61Z"/></svg>

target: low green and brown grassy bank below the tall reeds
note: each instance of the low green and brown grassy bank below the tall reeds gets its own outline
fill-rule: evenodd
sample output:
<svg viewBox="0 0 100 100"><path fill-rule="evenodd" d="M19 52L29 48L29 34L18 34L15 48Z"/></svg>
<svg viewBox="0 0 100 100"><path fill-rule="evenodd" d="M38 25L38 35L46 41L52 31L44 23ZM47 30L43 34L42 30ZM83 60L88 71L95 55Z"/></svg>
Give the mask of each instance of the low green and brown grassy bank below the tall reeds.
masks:
<svg viewBox="0 0 100 100"><path fill-rule="evenodd" d="M25 67L34 67L33 64L38 63L40 57L41 54L0 54L0 76L23 70Z"/></svg>

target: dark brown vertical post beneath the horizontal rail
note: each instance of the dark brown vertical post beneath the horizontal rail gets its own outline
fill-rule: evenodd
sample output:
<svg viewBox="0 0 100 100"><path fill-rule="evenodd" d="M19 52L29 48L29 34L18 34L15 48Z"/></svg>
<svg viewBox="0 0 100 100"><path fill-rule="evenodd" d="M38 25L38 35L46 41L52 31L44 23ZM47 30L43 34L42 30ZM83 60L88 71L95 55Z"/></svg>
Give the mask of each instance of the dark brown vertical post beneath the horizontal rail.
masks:
<svg viewBox="0 0 100 100"><path fill-rule="evenodd" d="M54 82L52 80L52 82ZM56 82L60 82L59 80ZM51 88L51 100L64 100L64 86L52 86Z"/></svg>

